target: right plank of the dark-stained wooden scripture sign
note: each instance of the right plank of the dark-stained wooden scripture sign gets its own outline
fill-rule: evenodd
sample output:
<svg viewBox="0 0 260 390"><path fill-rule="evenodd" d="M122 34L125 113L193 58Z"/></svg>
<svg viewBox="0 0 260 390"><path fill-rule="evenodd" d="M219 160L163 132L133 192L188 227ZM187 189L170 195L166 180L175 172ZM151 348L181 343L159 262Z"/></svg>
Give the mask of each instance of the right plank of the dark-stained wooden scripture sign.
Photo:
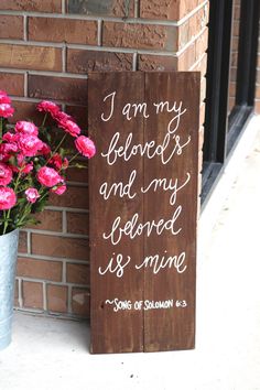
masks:
<svg viewBox="0 0 260 390"><path fill-rule="evenodd" d="M171 229L144 237L144 256L152 257L144 268L144 303L149 302L144 350L191 349L195 343L199 74L147 74L145 100L151 115L144 122L144 142L154 140L164 151L144 158L144 189L150 186L144 194L144 221L163 219ZM164 102L155 106L158 115L154 102ZM166 191L170 184L178 188L175 195L174 189ZM167 308L149 308L156 305Z"/></svg>

